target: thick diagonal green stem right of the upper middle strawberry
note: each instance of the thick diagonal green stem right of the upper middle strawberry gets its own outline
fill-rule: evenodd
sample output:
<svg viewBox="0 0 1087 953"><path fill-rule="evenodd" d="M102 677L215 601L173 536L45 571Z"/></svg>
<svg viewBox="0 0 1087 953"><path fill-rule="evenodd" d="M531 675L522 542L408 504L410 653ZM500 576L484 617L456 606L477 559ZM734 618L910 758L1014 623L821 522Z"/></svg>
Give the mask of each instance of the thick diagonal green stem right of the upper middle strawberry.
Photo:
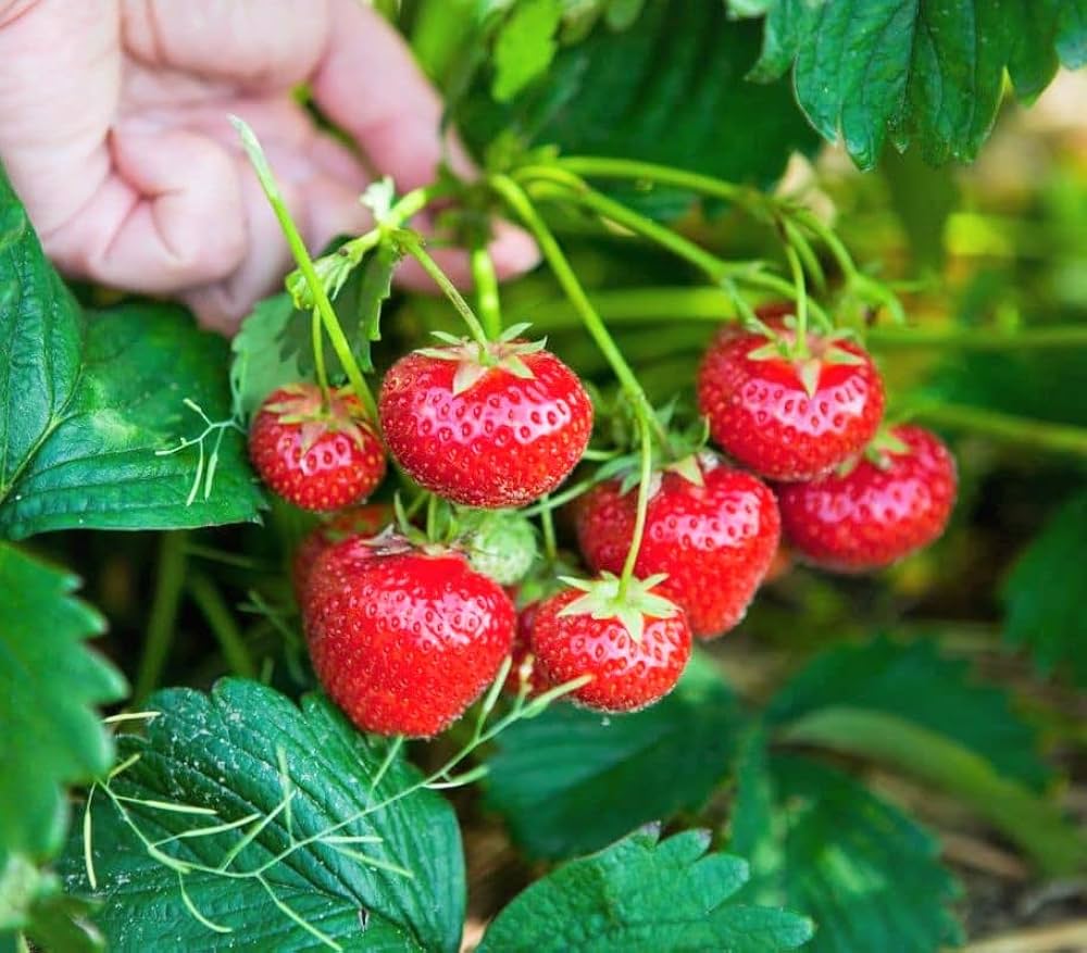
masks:
<svg viewBox="0 0 1087 953"><path fill-rule="evenodd" d="M574 274L570 262L566 261L566 256L559 247L559 242L555 241L554 235L551 234L551 229L547 227L547 224L536 211L528 196L525 195L524 190L513 179L504 175L497 175L492 177L491 186L514 213L516 213L517 217L524 222L528 230L533 233L559 285L566 292L566 297L580 316L592 340L596 341L597 347L600 348L601 353L607 358L608 364L611 366L615 377L619 378L619 383L634 405L635 414L639 419L642 417L647 418L650 426L655 428L658 438L662 441L661 446L666 448L669 446L667 435L657 419L657 415L653 413L646 392L641 389L641 385L638 383L634 371L630 369L630 365L626 363L623 352L615 344L611 333L600 319L600 315L597 314L592 302L589 301L585 289L582 287L582 283L577 279L577 275Z"/></svg>

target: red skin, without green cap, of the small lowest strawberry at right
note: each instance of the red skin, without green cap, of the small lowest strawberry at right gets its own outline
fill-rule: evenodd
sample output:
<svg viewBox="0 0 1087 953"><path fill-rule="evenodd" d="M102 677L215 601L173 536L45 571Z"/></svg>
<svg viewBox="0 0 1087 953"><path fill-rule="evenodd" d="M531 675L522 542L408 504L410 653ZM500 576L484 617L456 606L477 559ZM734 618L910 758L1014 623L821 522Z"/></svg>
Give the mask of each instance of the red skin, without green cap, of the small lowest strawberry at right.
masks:
<svg viewBox="0 0 1087 953"><path fill-rule="evenodd" d="M598 712L636 712L660 701L679 679L690 657L691 636L682 611L667 618L645 618L636 642L617 618L559 613L584 593L564 590L536 613L533 647L551 685L583 675L592 680L565 698Z"/></svg>

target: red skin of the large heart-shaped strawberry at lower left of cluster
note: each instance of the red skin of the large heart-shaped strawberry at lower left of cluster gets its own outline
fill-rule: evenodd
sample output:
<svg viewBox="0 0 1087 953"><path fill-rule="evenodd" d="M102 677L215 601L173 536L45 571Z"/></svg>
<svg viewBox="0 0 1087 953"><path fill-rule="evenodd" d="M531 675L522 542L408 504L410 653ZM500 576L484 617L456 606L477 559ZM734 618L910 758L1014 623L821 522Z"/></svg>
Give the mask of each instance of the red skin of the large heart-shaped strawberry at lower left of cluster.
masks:
<svg viewBox="0 0 1087 953"><path fill-rule="evenodd" d="M493 680L513 603L459 553L360 549L338 543L314 566L302 610L314 670L362 730L430 738Z"/></svg>

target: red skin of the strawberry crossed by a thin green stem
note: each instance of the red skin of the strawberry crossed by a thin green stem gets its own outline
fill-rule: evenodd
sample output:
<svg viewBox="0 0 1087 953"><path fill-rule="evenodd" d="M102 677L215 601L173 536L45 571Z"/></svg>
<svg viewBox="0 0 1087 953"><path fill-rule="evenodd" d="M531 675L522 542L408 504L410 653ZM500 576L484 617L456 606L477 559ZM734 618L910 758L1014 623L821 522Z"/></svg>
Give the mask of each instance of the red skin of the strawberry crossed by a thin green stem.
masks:
<svg viewBox="0 0 1087 953"><path fill-rule="evenodd" d="M762 480L713 454L700 466L701 487L677 473L660 475L635 575L666 573L661 592L687 613L697 638L711 639L744 618L777 550L780 519ZM594 487L575 511L582 555L596 572L620 574L634 538L638 493L620 488L619 480Z"/></svg>

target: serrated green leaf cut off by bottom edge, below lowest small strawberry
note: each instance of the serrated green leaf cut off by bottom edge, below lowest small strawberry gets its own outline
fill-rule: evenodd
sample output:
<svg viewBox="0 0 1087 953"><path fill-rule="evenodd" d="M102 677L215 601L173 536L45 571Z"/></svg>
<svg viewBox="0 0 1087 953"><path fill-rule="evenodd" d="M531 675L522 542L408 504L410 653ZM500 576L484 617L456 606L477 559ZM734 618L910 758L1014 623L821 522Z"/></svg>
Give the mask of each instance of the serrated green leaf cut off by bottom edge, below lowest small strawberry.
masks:
<svg viewBox="0 0 1087 953"><path fill-rule="evenodd" d="M487 929L479 953L772 953L812 936L811 923L787 911L727 903L748 866L708 854L709 845L705 831L660 840L652 827L572 861L514 898Z"/></svg>

